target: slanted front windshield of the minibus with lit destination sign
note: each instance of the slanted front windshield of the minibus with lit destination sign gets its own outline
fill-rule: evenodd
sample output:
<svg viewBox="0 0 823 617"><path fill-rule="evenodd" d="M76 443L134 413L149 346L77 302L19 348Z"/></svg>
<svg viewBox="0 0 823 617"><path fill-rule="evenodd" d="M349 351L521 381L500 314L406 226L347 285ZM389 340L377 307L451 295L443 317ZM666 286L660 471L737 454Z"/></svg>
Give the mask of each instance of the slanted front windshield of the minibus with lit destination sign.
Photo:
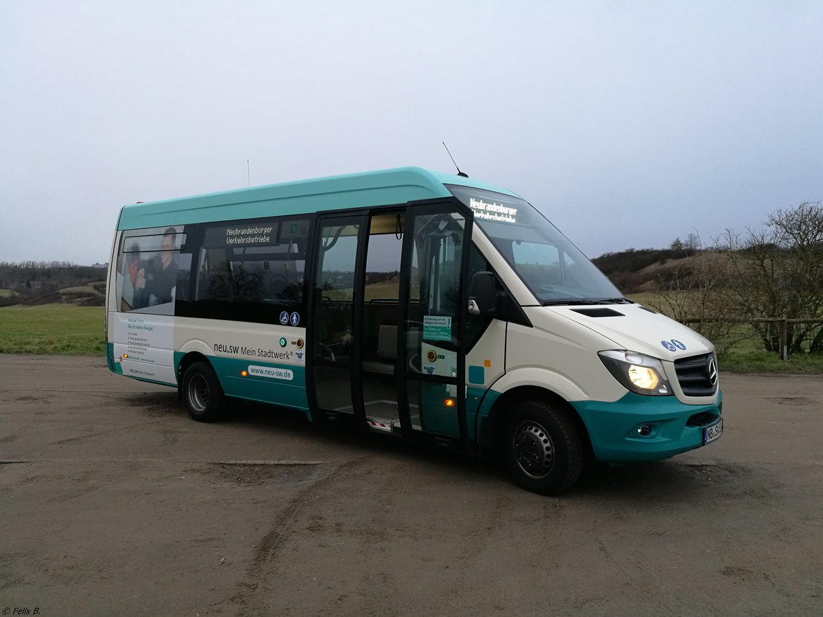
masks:
<svg viewBox="0 0 823 617"><path fill-rule="evenodd" d="M472 209L475 223L543 305L629 302L528 202L479 188L447 188Z"/></svg>

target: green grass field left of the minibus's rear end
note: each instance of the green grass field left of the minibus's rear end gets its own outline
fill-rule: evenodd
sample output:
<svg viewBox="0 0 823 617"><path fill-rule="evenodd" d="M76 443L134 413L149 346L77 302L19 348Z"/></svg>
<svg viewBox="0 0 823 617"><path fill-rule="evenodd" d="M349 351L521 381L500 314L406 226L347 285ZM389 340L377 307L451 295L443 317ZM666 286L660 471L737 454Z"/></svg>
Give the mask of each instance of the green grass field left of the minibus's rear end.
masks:
<svg viewBox="0 0 823 617"><path fill-rule="evenodd" d="M105 308L68 304L0 308L2 354L105 354Z"/></svg>

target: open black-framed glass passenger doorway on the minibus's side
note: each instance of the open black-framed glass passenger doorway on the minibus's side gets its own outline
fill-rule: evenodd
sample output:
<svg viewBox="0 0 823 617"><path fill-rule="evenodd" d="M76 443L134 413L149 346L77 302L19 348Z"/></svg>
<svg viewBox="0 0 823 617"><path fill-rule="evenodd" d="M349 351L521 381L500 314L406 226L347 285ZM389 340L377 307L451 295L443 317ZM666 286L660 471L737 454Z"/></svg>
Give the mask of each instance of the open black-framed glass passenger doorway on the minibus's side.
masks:
<svg viewBox="0 0 823 617"><path fill-rule="evenodd" d="M467 440L469 225L453 203L319 217L314 406L372 429Z"/></svg>

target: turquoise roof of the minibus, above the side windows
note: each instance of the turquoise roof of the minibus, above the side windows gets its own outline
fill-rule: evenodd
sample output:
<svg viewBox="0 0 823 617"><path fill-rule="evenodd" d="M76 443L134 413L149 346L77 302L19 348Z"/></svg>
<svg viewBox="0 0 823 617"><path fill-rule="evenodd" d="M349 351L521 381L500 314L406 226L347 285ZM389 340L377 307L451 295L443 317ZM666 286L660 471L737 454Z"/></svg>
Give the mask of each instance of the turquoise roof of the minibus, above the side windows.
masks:
<svg viewBox="0 0 823 617"><path fill-rule="evenodd" d="M400 167L123 206L117 228L135 230L401 204L449 197L451 193L444 184L484 188L517 197L505 188L462 176L439 174L420 167Z"/></svg>

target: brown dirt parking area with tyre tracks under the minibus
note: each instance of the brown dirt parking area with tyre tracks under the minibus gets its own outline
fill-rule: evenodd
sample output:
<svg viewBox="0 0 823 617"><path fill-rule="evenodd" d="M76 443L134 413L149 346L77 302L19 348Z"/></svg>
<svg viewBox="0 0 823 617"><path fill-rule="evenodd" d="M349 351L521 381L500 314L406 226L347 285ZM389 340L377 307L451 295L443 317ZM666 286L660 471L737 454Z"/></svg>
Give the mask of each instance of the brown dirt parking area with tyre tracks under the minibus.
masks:
<svg viewBox="0 0 823 617"><path fill-rule="evenodd" d="M265 406L198 424L100 359L0 355L0 613L821 615L823 379L722 387L718 443L546 498Z"/></svg>

